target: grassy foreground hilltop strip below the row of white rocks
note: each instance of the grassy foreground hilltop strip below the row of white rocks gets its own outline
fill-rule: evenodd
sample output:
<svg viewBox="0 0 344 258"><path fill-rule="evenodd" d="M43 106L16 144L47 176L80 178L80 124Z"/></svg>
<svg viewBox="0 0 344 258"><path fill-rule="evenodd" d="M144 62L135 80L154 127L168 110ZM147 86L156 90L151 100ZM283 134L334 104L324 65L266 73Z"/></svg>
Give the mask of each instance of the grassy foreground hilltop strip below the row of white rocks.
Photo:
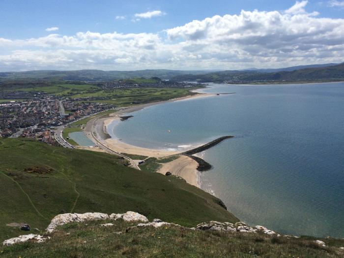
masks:
<svg viewBox="0 0 344 258"><path fill-rule="evenodd" d="M111 227L100 224L113 223ZM323 258L343 257L338 248L323 240L271 237L262 233L196 231L176 226L138 228L134 223L96 221L58 227L44 243L0 247L0 257L233 257ZM196 225L195 225L196 226ZM115 232L121 232L116 234ZM344 245L344 240L338 240Z"/></svg>

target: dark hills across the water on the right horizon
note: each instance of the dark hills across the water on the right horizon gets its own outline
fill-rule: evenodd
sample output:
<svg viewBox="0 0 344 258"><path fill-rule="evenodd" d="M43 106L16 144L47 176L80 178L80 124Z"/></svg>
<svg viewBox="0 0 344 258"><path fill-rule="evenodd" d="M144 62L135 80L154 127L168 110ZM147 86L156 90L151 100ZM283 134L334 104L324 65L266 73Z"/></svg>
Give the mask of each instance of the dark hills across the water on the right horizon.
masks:
<svg viewBox="0 0 344 258"><path fill-rule="evenodd" d="M293 71L219 71L206 74L187 74L173 77L174 81L227 83L284 83L344 81L344 64L304 68Z"/></svg>

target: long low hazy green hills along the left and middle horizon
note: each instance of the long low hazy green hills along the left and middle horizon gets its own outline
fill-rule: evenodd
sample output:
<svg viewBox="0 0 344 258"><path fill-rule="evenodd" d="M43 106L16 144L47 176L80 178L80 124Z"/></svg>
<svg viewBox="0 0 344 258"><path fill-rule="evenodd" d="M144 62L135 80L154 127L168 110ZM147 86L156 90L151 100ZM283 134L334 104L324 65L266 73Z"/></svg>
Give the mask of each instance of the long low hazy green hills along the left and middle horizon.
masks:
<svg viewBox="0 0 344 258"><path fill-rule="evenodd" d="M137 70L137 71L102 71L102 70L76 70L76 71L57 71L57 70L39 70L39 71L25 71L25 72L0 72L0 80L68 80L68 81L88 81L100 82L111 81L116 79L128 78L151 78L159 77L163 80L168 80L173 76L182 74L202 74L213 72L215 70L197 70L197 71L183 71L183 70Z"/></svg>

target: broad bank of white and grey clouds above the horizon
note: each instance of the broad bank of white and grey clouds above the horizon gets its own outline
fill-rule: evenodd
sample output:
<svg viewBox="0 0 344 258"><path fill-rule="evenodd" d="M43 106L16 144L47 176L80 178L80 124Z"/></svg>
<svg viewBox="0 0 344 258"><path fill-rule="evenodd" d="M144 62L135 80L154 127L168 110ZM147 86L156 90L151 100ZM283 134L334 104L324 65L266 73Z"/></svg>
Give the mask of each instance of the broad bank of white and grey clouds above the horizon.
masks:
<svg viewBox="0 0 344 258"><path fill-rule="evenodd" d="M0 70L240 69L343 62L344 19L316 17L306 11L306 3L296 2L287 11L216 15L162 33L0 38Z"/></svg>

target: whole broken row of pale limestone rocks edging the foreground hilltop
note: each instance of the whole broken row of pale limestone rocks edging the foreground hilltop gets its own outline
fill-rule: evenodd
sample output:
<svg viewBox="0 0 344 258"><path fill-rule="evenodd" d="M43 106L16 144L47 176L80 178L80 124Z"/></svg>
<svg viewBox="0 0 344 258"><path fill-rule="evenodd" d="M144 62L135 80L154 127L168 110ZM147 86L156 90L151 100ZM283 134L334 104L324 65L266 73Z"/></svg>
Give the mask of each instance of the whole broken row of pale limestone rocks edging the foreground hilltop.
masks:
<svg viewBox="0 0 344 258"><path fill-rule="evenodd" d="M57 226L62 226L68 223L72 222L79 222L79 223L85 223L88 221L102 221L102 220L123 220L126 222L140 222L136 226L131 226L126 228L126 232L130 231L131 228L135 227L161 227L161 226L177 226L184 229L189 230L213 230L213 231L222 231L222 232L235 232L235 233L263 233L270 236L276 236L276 237L295 237L297 236L290 236L290 235L281 235L273 230L267 229L264 226L255 226L251 227L245 224L244 222L237 222L235 224L229 223L229 222L217 222L217 221L210 221L210 222L203 222L201 224L198 224L196 227L184 227L180 226L178 224L174 223L168 223L163 222L160 219L154 219L152 222L148 222L148 219L137 212L128 211L123 214L106 214L106 213L99 213L99 212L87 212L83 214L78 213L65 213L65 214L59 214L54 217L54 219L51 221L49 226L46 228L46 232L43 235L39 234L28 234L28 235L21 235L18 237L10 238L8 240L5 240L2 244L3 245L13 245L16 243L23 243L27 241L33 241L36 243L42 243L46 240L51 239L50 234L53 233ZM112 223L106 223L106 224L100 224L99 226L114 226ZM315 244L324 247L325 243L316 240Z"/></svg>

